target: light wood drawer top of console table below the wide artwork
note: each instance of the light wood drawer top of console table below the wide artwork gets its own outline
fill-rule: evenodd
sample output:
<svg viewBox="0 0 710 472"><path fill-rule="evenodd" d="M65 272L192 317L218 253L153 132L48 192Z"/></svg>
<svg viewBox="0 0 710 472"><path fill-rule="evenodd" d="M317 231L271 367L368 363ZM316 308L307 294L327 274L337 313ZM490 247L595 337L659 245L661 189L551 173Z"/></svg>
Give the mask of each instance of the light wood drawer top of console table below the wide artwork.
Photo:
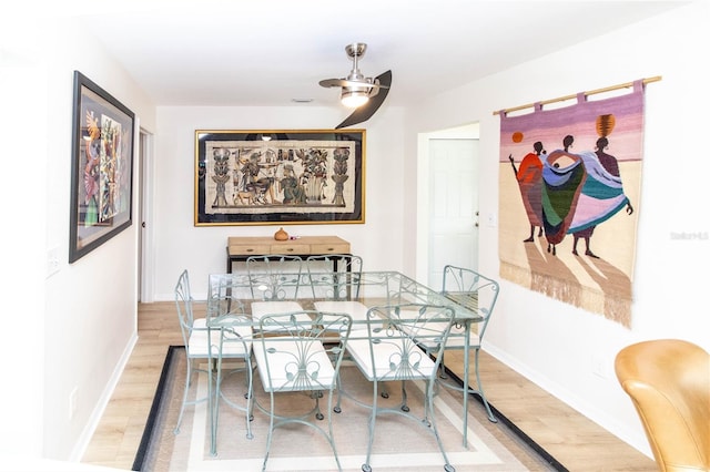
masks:
<svg viewBox="0 0 710 472"><path fill-rule="evenodd" d="M297 239L276 240L273 236L230 237L226 246L226 271L232 274L232 263L244 261L251 256L287 254L295 256L325 256L351 254L351 244L337 236L302 236Z"/></svg>

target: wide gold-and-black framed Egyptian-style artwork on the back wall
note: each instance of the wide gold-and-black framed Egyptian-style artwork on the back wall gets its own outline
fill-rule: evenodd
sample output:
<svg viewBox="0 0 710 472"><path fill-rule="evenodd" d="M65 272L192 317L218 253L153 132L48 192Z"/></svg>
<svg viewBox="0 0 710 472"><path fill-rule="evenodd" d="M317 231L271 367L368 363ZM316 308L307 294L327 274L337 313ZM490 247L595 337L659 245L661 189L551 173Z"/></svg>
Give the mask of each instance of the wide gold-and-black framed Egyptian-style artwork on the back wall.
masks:
<svg viewBox="0 0 710 472"><path fill-rule="evenodd" d="M365 222L364 130L195 131L195 226Z"/></svg>

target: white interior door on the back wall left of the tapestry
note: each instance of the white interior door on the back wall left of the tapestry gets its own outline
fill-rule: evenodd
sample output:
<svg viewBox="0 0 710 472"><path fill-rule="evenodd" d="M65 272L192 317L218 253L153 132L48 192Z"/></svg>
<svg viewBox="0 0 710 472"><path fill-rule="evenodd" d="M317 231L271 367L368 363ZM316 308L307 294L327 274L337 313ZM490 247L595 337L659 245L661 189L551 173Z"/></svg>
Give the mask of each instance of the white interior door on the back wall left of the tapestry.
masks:
<svg viewBox="0 0 710 472"><path fill-rule="evenodd" d="M429 140L428 285L446 264L478 268L478 140Z"/></svg>

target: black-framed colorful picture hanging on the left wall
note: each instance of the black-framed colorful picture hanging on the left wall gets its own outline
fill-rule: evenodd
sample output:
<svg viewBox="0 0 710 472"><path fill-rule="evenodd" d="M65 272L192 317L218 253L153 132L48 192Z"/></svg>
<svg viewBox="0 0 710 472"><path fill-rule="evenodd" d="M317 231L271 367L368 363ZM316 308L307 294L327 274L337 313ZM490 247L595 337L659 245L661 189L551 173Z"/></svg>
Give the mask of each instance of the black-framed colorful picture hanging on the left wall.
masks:
<svg viewBox="0 0 710 472"><path fill-rule="evenodd" d="M69 261L131 226L135 115L74 71Z"/></svg>

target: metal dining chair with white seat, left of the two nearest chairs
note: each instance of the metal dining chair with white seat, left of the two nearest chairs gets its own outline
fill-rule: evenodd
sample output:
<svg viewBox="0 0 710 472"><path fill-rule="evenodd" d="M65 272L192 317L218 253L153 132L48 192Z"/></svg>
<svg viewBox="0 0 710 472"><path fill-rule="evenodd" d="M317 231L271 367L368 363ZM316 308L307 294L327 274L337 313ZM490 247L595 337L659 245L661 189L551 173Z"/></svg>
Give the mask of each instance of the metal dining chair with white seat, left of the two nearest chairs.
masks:
<svg viewBox="0 0 710 472"><path fill-rule="evenodd" d="M310 321L302 321L304 315ZM333 434L332 406L352 322L346 314L322 311L276 314L261 318L260 329L255 332L254 357L262 386L270 398L267 408L257 403L270 420L262 470L266 469L274 431L293 424L318 431L331 445L337 469L342 470ZM297 392L310 393L308 401L301 404L303 410L286 413L277 408L276 396ZM325 418L320 407L323 393L327 393L328 399L326 427L316 422ZM312 399L315 400L314 407ZM292 400L290 410L295 404L300 403Z"/></svg>

